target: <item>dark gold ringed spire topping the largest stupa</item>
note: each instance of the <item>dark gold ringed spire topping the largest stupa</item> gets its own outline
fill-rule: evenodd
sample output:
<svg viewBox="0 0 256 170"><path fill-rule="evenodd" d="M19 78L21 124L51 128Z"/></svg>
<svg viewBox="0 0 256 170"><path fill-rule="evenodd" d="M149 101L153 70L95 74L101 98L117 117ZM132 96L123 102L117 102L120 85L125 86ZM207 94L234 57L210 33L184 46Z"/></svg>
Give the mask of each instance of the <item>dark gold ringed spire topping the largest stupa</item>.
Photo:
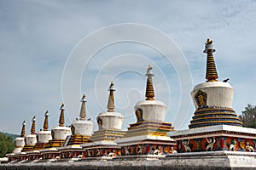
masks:
<svg viewBox="0 0 256 170"><path fill-rule="evenodd" d="M209 38L206 42L206 48L204 50L204 53L207 54L207 74L206 79L207 82L218 82L218 73L216 70L215 62L213 59L212 53L215 52L215 49L213 48L212 40Z"/></svg>

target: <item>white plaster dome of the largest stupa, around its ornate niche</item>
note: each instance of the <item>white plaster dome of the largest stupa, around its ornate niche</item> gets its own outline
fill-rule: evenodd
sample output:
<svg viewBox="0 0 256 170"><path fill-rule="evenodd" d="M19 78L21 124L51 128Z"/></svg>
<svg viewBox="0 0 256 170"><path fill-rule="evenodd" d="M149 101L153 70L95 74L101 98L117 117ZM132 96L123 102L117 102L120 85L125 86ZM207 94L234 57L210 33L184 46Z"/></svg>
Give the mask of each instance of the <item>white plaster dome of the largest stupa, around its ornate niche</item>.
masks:
<svg viewBox="0 0 256 170"><path fill-rule="evenodd" d="M232 108L234 89L228 82L203 82L196 85L191 92L195 109L198 108L195 94L199 90L207 94L207 105Z"/></svg>

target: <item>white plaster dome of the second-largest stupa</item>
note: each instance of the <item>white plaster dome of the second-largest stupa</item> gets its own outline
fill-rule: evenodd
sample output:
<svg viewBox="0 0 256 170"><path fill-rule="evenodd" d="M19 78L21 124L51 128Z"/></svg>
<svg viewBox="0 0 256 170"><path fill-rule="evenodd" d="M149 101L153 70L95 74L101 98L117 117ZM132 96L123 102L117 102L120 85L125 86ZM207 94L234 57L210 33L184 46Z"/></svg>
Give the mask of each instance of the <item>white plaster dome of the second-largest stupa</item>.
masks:
<svg viewBox="0 0 256 170"><path fill-rule="evenodd" d="M137 102L134 106L134 111L143 110L144 121L165 122L166 105L158 100L143 100Z"/></svg>

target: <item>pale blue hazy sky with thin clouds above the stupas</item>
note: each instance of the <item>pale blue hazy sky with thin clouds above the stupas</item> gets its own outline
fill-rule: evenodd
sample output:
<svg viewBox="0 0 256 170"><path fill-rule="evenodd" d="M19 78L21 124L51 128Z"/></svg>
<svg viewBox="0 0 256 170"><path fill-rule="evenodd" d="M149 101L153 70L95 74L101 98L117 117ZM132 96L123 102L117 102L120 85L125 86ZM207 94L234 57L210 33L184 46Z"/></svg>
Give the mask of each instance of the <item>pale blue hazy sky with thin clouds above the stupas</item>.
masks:
<svg viewBox="0 0 256 170"><path fill-rule="evenodd" d="M214 57L218 80L229 77L235 89L236 113L241 114L248 103L256 104L253 95L256 94L256 1L2 0L0 22L1 131L20 133L25 119L28 133L32 116L37 117L39 130L46 109L49 127L55 127L63 100L69 125L79 116L83 93L87 95L87 116L95 122L96 116L106 111L112 80L117 89L116 111L125 116L123 129L126 129L129 123L135 122L133 106L144 99L144 73L148 64L154 67L156 99L168 106L166 122L187 128L195 108L189 105L192 99L181 105L181 92L190 92L196 84L205 81L206 54L202 51L207 37L212 38L217 49ZM169 62L155 48L134 41L117 42L102 47L82 65L83 72L75 75L79 89L68 91L73 94L74 90L79 97L69 102L63 96L67 92L62 79L69 57L93 32L123 23L154 28L176 42L176 49L185 59L183 65L189 66L191 86L182 89L180 84L186 77L179 77L177 67L183 65ZM109 35L97 38L96 41L106 41ZM83 53L79 54L83 56ZM190 98L189 93L184 95Z"/></svg>

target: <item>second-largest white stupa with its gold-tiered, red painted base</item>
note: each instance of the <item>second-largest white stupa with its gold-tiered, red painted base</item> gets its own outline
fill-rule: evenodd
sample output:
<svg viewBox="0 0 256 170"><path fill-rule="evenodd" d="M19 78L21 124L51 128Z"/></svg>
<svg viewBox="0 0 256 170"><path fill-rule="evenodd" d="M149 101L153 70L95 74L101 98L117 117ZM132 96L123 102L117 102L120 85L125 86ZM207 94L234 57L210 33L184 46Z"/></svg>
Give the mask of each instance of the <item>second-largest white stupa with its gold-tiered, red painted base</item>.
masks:
<svg viewBox="0 0 256 170"><path fill-rule="evenodd" d="M165 122L166 105L154 99L152 67L148 65L146 99L134 106L137 122L130 124L122 139L114 140L122 147L121 154L128 155L167 155L175 145L167 132L173 131L172 123Z"/></svg>

